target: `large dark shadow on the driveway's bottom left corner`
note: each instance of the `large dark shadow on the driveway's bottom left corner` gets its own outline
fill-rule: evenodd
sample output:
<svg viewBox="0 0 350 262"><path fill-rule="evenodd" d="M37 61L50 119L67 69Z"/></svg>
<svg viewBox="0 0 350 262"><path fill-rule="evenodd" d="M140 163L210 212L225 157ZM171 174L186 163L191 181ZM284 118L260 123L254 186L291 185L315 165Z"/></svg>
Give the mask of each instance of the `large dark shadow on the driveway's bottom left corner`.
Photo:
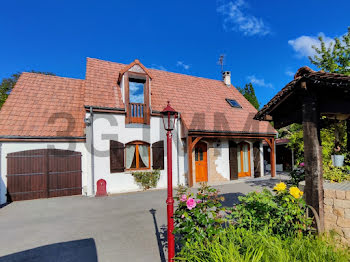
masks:
<svg viewBox="0 0 350 262"><path fill-rule="evenodd" d="M93 238L56 243L0 257L0 262L98 262Z"/></svg>

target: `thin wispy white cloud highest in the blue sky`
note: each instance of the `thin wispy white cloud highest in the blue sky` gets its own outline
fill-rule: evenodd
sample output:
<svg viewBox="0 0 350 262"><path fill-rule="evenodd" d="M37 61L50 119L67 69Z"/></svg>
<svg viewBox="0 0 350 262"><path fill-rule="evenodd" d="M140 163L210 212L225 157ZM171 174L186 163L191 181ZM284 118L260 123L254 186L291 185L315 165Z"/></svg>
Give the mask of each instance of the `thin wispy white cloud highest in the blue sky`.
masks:
<svg viewBox="0 0 350 262"><path fill-rule="evenodd" d="M246 36L269 34L270 28L261 18L245 13L246 7L244 0L222 2L217 12L224 17L224 29L243 32Z"/></svg>

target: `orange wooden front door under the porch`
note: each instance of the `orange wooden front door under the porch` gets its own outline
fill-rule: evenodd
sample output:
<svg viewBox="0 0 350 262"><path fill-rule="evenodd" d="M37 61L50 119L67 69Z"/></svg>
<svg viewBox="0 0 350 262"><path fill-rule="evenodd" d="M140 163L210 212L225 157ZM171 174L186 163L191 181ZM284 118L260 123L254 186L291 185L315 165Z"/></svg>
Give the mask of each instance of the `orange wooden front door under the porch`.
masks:
<svg viewBox="0 0 350 262"><path fill-rule="evenodd" d="M196 182L208 181L207 144L199 142L195 146Z"/></svg>

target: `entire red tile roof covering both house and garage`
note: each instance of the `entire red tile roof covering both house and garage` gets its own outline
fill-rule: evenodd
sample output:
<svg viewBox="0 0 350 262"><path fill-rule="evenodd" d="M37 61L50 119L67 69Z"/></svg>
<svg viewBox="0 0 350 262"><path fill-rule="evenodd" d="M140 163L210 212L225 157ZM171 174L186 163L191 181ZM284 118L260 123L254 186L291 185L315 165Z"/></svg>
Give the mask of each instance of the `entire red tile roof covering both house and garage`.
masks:
<svg viewBox="0 0 350 262"><path fill-rule="evenodd" d="M84 106L124 108L118 77L126 66L88 58L85 80L23 73L0 111L0 136L84 136ZM276 133L269 123L253 119L257 110L233 86L147 70L152 74L152 110L161 111L170 100L189 130ZM231 107L226 98L242 108ZM73 129L67 131L66 119L50 122L55 115L70 118Z"/></svg>

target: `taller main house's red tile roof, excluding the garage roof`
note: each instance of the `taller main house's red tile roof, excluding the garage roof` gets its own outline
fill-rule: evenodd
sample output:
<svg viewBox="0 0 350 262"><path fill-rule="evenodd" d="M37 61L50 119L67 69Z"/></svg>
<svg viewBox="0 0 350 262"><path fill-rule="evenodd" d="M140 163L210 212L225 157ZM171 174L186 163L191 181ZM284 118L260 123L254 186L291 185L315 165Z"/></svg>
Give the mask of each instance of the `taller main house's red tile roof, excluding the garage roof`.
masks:
<svg viewBox="0 0 350 262"><path fill-rule="evenodd" d="M86 79L93 79L94 84L86 83L86 93L91 96L85 96L85 104L124 107L117 79L119 71L125 66L88 58ZM257 110L233 86L227 87L218 80L156 69L148 71L153 76L152 110L161 111L170 100L171 106L181 113L190 130L276 133L269 123L253 119ZM117 95L113 95L113 87L116 87ZM235 99L242 108L231 107L226 98Z"/></svg>

